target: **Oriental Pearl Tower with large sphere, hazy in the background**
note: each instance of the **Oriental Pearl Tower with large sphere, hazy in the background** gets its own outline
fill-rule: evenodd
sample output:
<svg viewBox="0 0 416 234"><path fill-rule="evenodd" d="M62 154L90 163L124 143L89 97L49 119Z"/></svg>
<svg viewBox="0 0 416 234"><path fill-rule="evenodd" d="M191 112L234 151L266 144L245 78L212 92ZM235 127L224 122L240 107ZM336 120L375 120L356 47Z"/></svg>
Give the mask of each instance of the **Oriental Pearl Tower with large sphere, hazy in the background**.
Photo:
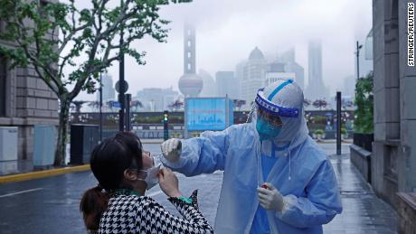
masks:
<svg viewBox="0 0 416 234"><path fill-rule="evenodd" d="M179 79L179 90L185 98L198 97L203 79L195 73L195 28L184 24L184 75Z"/></svg>

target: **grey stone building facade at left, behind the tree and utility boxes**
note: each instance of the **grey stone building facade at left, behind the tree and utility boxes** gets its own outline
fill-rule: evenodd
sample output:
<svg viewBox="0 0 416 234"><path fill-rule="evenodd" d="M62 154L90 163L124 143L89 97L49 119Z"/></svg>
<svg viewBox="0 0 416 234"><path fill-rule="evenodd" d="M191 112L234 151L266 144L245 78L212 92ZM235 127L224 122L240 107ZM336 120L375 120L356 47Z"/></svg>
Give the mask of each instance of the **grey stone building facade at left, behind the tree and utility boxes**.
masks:
<svg viewBox="0 0 416 234"><path fill-rule="evenodd" d="M0 33L5 23L0 23ZM0 40L3 46L14 42ZM30 170L33 159L33 127L58 126L58 98L33 67L9 69L11 61L0 54L0 126L18 127L18 170ZM52 139L54 142L54 139Z"/></svg>

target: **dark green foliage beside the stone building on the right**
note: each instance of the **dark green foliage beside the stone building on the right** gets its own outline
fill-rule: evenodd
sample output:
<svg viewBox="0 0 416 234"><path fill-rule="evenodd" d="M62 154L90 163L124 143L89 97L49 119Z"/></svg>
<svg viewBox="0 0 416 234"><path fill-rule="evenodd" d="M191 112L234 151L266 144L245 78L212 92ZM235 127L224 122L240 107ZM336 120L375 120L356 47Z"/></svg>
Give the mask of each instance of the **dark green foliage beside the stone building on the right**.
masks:
<svg viewBox="0 0 416 234"><path fill-rule="evenodd" d="M355 132L373 133L373 72L355 85Z"/></svg>

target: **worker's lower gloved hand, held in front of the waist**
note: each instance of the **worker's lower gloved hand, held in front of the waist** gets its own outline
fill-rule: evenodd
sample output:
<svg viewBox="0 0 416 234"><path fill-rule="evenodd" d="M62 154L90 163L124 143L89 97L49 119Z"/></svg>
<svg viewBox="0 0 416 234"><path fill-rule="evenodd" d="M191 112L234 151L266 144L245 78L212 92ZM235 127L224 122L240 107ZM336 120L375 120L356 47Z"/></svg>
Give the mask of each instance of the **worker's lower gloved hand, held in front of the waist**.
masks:
<svg viewBox="0 0 416 234"><path fill-rule="evenodd" d="M264 183L268 188L257 188L261 207L266 210L282 211L284 198L281 193L271 184Z"/></svg>

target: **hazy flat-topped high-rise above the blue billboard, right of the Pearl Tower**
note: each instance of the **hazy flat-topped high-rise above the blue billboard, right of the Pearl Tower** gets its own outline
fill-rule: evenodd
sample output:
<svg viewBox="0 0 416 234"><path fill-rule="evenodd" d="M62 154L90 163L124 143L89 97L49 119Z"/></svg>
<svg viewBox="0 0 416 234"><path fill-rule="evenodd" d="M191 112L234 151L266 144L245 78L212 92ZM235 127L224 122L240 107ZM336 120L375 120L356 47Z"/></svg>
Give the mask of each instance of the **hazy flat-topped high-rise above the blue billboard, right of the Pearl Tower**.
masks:
<svg viewBox="0 0 416 234"><path fill-rule="evenodd" d="M237 99L238 89L236 87L236 79L234 78L234 71L217 71L215 73L215 80L217 83L217 95L219 97L228 96L228 98Z"/></svg>

